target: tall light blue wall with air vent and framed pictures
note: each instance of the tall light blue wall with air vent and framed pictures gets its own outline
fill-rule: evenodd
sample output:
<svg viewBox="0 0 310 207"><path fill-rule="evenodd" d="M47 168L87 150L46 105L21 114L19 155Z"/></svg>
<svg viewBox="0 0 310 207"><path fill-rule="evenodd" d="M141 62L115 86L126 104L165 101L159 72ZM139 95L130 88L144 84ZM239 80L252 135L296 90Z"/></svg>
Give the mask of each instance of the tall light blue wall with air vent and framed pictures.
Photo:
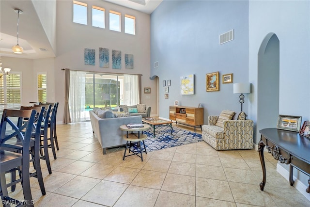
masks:
<svg viewBox="0 0 310 207"><path fill-rule="evenodd" d="M219 35L234 30L234 40L219 44ZM158 67L154 68L154 62ZM206 74L219 72L219 91L206 92ZM169 106L204 108L208 115L224 109L241 111L233 83L222 75L233 73L233 83L248 82L248 1L164 0L151 15L151 77L159 77L160 117L169 118ZM195 95L182 96L180 77L195 75ZM163 80L171 80L169 99ZM248 113L248 95L243 111Z"/></svg>

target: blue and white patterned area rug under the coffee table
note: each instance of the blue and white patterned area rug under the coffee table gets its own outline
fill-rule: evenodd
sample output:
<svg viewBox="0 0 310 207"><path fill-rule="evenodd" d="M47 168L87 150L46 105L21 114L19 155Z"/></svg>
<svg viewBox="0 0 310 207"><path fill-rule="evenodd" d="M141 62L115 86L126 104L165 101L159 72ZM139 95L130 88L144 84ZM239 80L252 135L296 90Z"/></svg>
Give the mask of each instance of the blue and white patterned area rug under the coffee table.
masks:
<svg viewBox="0 0 310 207"><path fill-rule="evenodd" d="M171 127L167 125L156 128L155 137L153 128L143 131L143 133L148 136L147 139L144 140L147 152L203 141L201 134L179 127L173 127L171 135ZM135 145L134 148L134 151L139 152L137 145ZM142 148L144 148L143 144L141 144L141 149Z"/></svg>

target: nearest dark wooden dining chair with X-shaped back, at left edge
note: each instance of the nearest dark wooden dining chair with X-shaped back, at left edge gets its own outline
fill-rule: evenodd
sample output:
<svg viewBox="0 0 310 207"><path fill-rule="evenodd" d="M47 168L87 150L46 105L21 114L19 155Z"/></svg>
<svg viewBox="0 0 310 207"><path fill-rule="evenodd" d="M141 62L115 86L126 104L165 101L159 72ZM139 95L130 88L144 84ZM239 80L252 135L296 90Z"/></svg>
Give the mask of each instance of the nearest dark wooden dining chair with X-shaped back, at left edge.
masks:
<svg viewBox="0 0 310 207"><path fill-rule="evenodd" d="M30 188L30 143L36 110L9 110L4 109L0 123L0 197L4 207L10 207L11 203L33 207L33 199ZM17 118L17 124L14 120ZM27 121L22 123L22 120ZM19 125L22 123L21 125ZM18 127L20 126L20 127ZM8 134L7 127L12 128ZM16 137L21 140L22 145L19 147L20 153L5 150L4 142ZM21 177L14 183L21 182L24 194L24 201L18 201L9 197L5 173L21 166Z"/></svg>

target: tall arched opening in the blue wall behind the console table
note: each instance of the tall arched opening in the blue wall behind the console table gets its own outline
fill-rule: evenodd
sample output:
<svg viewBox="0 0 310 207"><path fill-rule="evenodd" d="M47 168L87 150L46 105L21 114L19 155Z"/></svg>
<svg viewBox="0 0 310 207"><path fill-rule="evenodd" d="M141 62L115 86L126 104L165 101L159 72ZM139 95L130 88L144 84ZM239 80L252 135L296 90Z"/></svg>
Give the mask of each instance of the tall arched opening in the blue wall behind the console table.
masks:
<svg viewBox="0 0 310 207"><path fill-rule="evenodd" d="M279 39L271 32L264 38L258 52L257 135L263 128L277 127L279 71Z"/></svg>

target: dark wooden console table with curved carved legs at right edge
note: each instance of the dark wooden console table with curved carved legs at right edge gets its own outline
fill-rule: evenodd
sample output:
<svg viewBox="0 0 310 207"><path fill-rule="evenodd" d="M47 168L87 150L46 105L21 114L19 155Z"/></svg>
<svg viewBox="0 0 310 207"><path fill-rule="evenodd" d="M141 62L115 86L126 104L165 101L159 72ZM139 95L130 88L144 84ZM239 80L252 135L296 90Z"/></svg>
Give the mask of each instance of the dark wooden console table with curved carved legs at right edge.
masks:
<svg viewBox="0 0 310 207"><path fill-rule="evenodd" d="M263 158L263 148L266 149L281 163L290 165L289 181L293 186L293 167L310 176L310 139L299 135L298 132L286 131L277 128L264 128L260 130L261 141L258 143L258 152L263 168L263 181L261 190L266 184L266 167ZM307 192L310 192L310 178Z"/></svg>

